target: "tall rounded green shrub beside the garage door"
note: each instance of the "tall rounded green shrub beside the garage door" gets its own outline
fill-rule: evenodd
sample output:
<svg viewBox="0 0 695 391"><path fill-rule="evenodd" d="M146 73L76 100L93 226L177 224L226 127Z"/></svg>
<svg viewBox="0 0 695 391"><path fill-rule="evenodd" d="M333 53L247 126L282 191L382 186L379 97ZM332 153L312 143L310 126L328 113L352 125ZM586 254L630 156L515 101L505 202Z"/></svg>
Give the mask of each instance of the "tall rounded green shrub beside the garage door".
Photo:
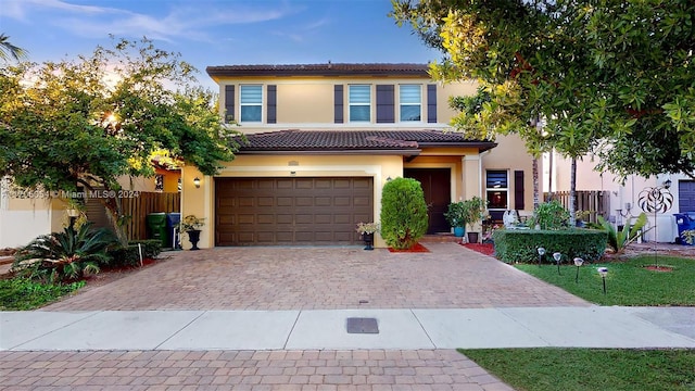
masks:
<svg viewBox="0 0 695 391"><path fill-rule="evenodd" d="M394 249L409 249L425 236L429 218L420 182L395 178L381 194L381 237Z"/></svg>

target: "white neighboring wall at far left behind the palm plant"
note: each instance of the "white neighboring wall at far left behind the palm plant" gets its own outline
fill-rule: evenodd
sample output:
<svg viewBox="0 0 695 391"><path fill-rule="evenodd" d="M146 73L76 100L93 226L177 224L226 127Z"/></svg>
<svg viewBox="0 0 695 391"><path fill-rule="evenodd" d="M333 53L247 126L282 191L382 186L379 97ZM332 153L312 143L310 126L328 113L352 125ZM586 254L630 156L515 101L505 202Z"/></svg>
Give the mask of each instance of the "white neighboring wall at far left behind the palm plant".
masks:
<svg viewBox="0 0 695 391"><path fill-rule="evenodd" d="M51 213L0 210L0 249L26 245L37 236L50 234Z"/></svg>

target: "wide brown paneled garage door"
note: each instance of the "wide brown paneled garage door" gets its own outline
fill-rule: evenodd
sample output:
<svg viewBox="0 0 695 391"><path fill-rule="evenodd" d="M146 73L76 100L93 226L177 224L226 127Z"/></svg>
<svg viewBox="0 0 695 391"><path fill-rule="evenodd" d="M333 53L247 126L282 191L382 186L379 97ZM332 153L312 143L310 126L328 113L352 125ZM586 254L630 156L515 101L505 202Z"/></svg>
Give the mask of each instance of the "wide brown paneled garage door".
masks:
<svg viewBox="0 0 695 391"><path fill-rule="evenodd" d="M215 245L355 244L371 178L216 178Z"/></svg>

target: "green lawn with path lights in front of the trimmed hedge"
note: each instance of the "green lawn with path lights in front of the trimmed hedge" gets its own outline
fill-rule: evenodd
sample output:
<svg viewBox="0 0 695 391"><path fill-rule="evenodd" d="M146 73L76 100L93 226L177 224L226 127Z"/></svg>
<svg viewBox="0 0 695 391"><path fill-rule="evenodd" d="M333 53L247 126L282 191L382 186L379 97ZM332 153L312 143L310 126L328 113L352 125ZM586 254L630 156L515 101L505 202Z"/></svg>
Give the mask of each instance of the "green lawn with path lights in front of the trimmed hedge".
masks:
<svg viewBox="0 0 695 391"><path fill-rule="evenodd" d="M673 267L673 272L652 272L645 265ZM579 282L574 282L577 267L555 265L517 264L520 270L563 288L586 301L601 305L695 305L695 260L672 256L641 255L628 261L585 264L579 269ZM606 294L596 268L608 268Z"/></svg>

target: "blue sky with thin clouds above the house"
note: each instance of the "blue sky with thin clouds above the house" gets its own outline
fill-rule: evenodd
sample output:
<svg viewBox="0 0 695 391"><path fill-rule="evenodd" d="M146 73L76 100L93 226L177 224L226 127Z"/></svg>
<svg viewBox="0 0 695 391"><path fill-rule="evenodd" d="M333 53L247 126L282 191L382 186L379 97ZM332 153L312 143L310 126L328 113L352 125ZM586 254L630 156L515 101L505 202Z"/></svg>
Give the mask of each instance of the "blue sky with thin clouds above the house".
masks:
<svg viewBox="0 0 695 391"><path fill-rule="evenodd" d="M42 62L147 36L208 65L428 63L440 58L387 16L390 0L1 0L0 33Z"/></svg>

